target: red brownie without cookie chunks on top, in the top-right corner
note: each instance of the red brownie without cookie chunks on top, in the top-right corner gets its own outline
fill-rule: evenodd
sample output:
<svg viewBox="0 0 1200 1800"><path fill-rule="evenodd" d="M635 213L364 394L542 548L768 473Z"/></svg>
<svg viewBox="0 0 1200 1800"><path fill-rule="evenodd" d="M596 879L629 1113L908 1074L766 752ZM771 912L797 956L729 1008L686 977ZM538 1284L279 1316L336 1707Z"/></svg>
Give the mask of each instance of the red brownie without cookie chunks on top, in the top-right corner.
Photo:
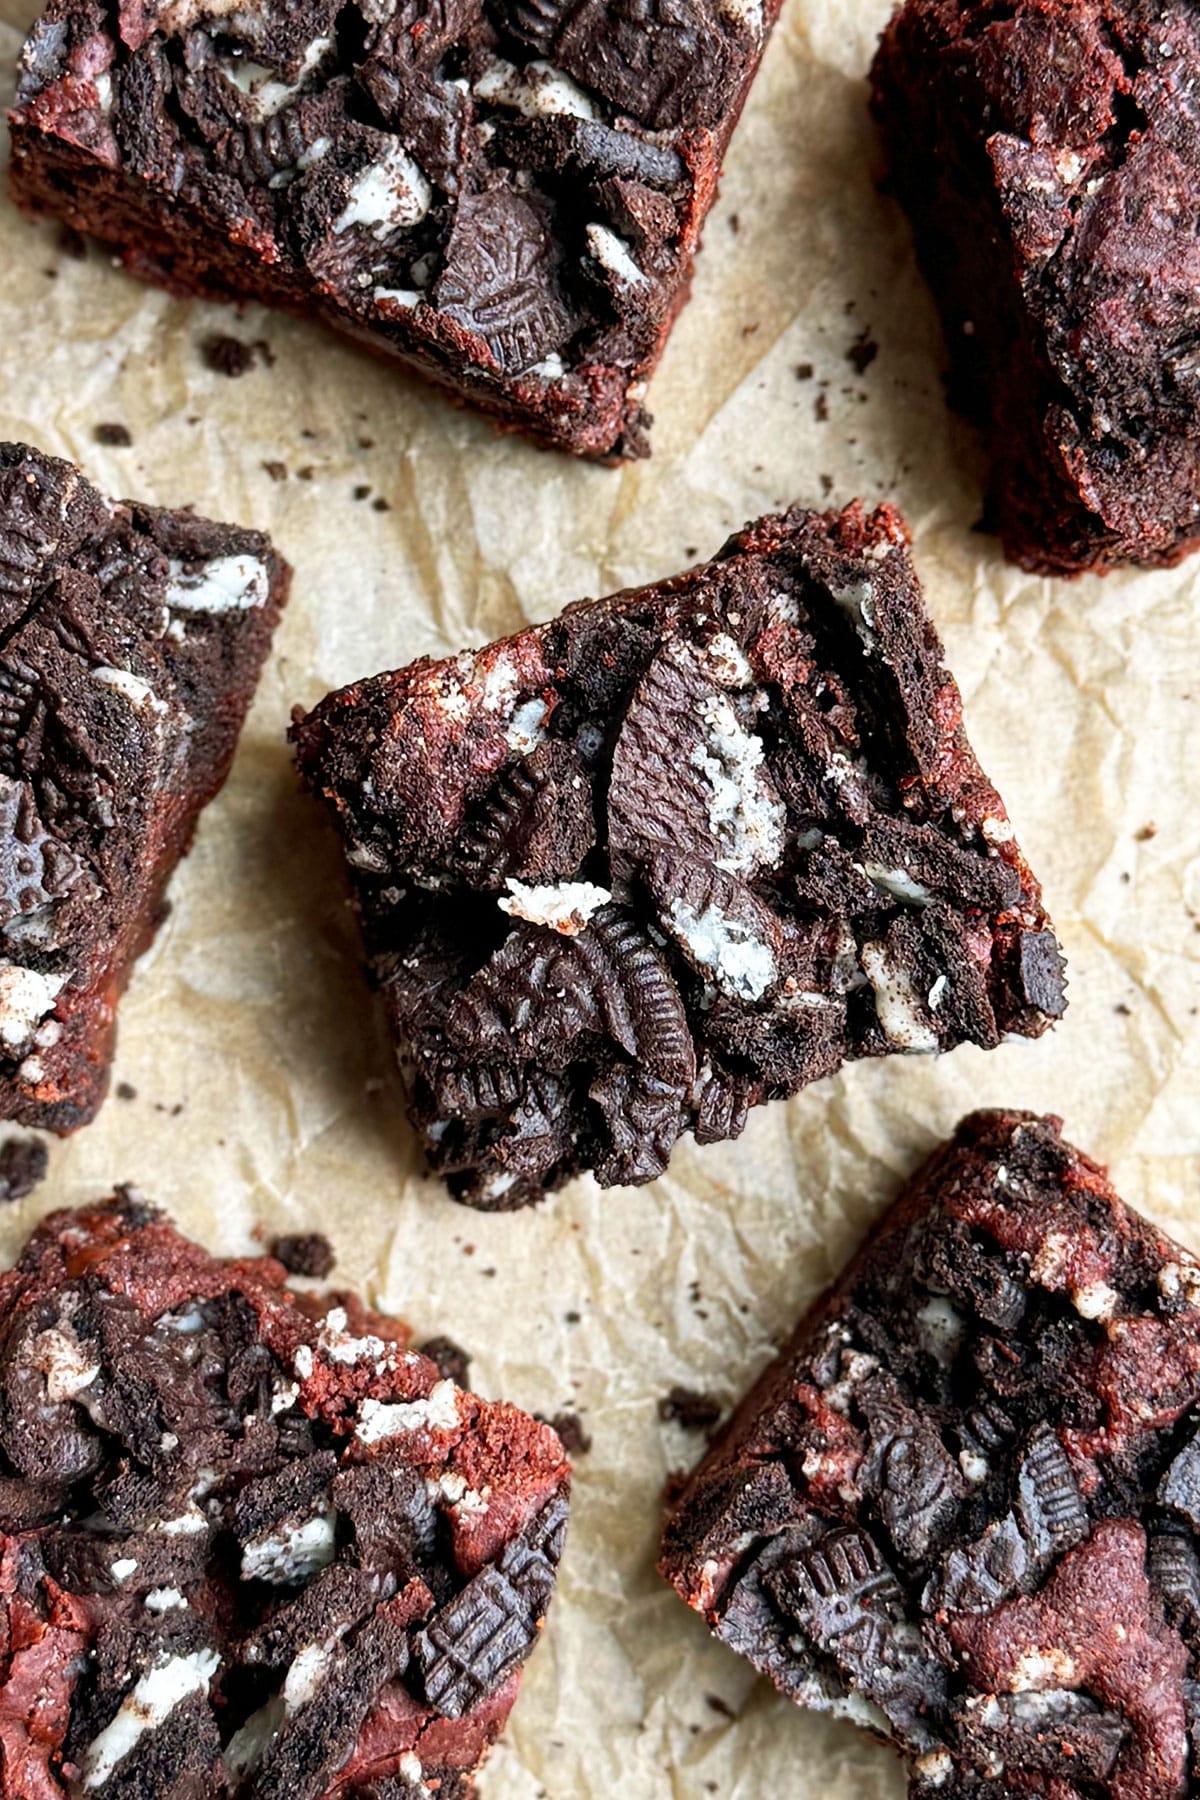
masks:
<svg viewBox="0 0 1200 1800"><path fill-rule="evenodd" d="M873 81L1007 554L1175 562L1200 542L1196 7L907 0Z"/></svg>

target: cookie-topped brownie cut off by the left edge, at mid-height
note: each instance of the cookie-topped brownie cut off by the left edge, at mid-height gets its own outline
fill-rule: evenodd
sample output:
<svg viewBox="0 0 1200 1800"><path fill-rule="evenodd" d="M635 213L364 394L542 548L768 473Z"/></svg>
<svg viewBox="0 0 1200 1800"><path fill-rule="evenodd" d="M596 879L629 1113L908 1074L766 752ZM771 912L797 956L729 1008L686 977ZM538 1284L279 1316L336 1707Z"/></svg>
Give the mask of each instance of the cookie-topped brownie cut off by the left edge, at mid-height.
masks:
<svg viewBox="0 0 1200 1800"><path fill-rule="evenodd" d="M290 581L257 531L0 445L0 1118L72 1130Z"/></svg>

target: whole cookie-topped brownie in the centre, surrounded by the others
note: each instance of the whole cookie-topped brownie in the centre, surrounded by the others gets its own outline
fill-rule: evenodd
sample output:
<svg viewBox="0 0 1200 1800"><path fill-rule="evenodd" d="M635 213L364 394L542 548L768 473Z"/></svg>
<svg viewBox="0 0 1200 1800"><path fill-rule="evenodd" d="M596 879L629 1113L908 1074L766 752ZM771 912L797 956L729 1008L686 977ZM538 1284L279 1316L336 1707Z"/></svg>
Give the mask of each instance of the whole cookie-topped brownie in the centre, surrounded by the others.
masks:
<svg viewBox="0 0 1200 1800"><path fill-rule="evenodd" d="M1061 963L903 520L792 511L293 725L434 1168L520 1206L846 1057L1036 1037Z"/></svg>

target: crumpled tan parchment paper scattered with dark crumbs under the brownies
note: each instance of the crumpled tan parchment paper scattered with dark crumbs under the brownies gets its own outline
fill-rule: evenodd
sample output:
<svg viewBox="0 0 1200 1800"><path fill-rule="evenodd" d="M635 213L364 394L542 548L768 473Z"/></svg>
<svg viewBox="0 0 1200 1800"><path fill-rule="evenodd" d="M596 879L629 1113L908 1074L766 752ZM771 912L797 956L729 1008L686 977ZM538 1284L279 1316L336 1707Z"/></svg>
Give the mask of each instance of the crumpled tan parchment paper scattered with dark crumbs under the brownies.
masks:
<svg viewBox="0 0 1200 1800"><path fill-rule="evenodd" d="M32 14L0 0L5 101ZM232 779L121 1008L115 1080L137 1098L54 1147L45 1186L0 1217L0 1256L121 1179L223 1253L255 1224L322 1228L336 1276L457 1337L484 1393L581 1413L560 1593L486 1800L903 1793L887 1750L788 1706L655 1577L664 1476L700 1453L657 1400L684 1382L730 1402L964 1111L1061 1112L1128 1201L1200 1247L1200 560L1054 583L972 531L979 450L873 185L862 76L885 14L788 0L651 389L655 455L621 472L498 439L315 328L171 301L95 248L72 259L56 225L0 203L0 436L112 493L268 527L297 569ZM860 331L878 344L864 374ZM214 374L209 333L261 338L273 365ZM95 441L113 421L131 448ZM649 1188L455 1206L419 1174L338 855L291 774L291 704L675 572L826 490L891 495L912 522L970 734L1067 945L1065 1022L991 1055L860 1064L736 1145L682 1145Z"/></svg>

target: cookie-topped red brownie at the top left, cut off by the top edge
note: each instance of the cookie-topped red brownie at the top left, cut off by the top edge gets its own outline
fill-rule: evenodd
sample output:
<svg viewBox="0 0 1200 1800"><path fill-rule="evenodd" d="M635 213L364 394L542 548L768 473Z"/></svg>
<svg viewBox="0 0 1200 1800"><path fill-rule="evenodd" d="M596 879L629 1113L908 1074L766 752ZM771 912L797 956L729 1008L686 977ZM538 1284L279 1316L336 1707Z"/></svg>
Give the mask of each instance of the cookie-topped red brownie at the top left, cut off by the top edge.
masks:
<svg viewBox="0 0 1200 1800"><path fill-rule="evenodd" d="M315 311L642 454L779 0L50 0L13 184L176 290Z"/></svg>

